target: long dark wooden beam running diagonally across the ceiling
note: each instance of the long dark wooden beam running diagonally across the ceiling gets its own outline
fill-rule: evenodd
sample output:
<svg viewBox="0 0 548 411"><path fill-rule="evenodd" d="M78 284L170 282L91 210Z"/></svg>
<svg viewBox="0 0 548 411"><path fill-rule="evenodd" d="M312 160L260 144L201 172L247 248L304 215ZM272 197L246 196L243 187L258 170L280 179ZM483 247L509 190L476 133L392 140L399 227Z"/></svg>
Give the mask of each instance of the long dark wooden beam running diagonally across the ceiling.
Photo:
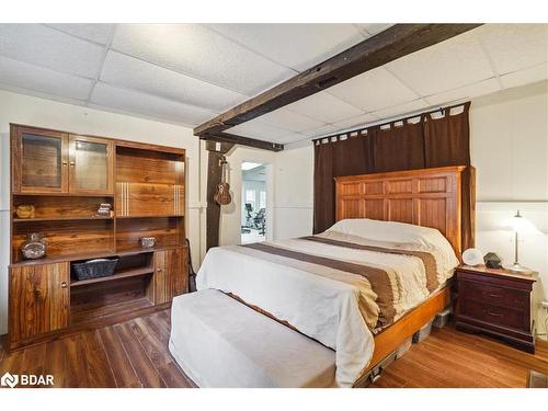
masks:
<svg viewBox="0 0 548 411"><path fill-rule="evenodd" d="M194 128L218 134L481 24L396 24ZM204 137L208 138L208 137Z"/></svg>

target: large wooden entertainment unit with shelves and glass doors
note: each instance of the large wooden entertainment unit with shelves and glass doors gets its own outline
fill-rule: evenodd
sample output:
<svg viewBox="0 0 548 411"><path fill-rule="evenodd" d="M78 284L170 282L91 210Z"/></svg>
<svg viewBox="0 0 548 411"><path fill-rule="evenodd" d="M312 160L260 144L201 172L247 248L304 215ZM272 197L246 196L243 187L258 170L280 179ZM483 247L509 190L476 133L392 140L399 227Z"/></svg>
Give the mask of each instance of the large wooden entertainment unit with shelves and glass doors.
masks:
<svg viewBox="0 0 548 411"><path fill-rule="evenodd" d="M168 307L187 289L184 218L184 149L12 124L9 349ZM31 232L47 241L37 260L21 252ZM113 275L75 278L99 258L119 259Z"/></svg>

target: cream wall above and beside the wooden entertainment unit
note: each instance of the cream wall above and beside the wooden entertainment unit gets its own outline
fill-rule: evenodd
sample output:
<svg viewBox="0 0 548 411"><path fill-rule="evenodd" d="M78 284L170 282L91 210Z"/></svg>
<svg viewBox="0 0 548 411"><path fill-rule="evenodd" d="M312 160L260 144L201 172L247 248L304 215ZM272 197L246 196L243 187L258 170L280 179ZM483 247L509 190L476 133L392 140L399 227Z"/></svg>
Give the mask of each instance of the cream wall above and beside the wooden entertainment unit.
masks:
<svg viewBox="0 0 548 411"><path fill-rule="evenodd" d="M83 106L64 104L0 91L0 334L7 332L9 264L9 132L10 123L43 126L81 134L153 142L186 149L187 216L186 232L191 240L195 266L201 261L201 148L192 129L175 125L106 113Z"/></svg>

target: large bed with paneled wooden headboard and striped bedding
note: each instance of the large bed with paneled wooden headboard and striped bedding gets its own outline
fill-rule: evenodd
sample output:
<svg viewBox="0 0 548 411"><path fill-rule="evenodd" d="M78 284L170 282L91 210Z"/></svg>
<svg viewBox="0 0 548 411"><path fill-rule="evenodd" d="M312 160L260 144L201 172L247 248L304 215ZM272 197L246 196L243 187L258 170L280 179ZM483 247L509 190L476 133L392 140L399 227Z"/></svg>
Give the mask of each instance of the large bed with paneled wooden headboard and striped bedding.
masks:
<svg viewBox="0 0 548 411"><path fill-rule="evenodd" d="M336 385L359 385L449 302L464 169L338 178L333 227L212 249L197 288L230 294L334 350Z"/></svg>

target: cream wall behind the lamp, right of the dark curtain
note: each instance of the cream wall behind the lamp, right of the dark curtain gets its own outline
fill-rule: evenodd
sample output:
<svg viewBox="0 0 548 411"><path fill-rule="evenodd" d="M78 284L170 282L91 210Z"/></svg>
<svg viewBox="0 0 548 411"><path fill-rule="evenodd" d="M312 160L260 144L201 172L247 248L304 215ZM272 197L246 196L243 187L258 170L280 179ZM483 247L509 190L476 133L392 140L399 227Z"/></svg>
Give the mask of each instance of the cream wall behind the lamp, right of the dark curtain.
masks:
<svg viewBox="0 0 548 411"><path fill-rule="evenodd" d="M540 273L548 300L548 82L472 101L471 155L477 169L477 248L513 262L513 235L502 221L520 209L541 231L521 241L520 262ZM546 332L539 309L538 330Z"/></svg>

